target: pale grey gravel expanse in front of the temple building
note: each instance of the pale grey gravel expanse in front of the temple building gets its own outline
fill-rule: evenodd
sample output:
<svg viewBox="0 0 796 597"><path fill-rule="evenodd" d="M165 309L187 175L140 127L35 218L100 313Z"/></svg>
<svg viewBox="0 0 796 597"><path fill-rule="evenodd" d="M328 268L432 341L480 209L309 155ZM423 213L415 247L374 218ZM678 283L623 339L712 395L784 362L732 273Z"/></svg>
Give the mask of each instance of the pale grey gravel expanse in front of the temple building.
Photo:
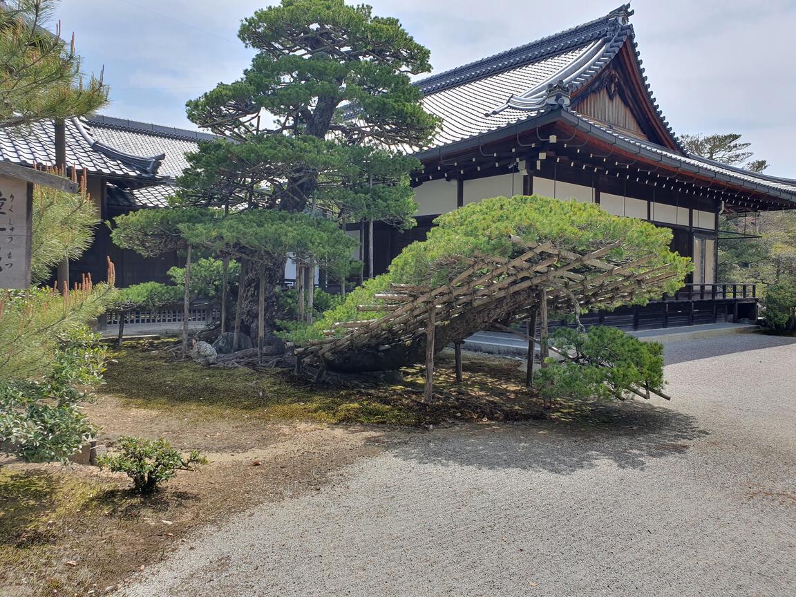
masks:
<svg viewBox="0 0 796 597"><path fill-rule="evenodd" d="M124 594L796 595L796 339L666 350L672 404L404 436Z"/></svg>

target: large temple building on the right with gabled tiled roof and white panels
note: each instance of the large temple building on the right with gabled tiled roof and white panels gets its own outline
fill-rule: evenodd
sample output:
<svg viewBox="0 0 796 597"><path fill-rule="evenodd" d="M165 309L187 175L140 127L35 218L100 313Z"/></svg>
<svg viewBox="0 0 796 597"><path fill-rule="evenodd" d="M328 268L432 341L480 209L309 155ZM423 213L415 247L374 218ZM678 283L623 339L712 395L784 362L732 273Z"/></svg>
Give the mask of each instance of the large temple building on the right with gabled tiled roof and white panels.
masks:
<svg viewBox="0 0 796 597"><path fill-rule="evenodd" d="M642 329L756 317L754 285L716 279L719 214L794 209L796 181L685 151L647 84L632 14L620 6L417 83L442 128L415 153L423 162L412 179L418 226L374 227L374 274L423 240L441 213L486 197L538 193L670 228L672 249L693 258L693 274L676 296L588 321ZM363 232L351 226L349 234Z"/></svg>

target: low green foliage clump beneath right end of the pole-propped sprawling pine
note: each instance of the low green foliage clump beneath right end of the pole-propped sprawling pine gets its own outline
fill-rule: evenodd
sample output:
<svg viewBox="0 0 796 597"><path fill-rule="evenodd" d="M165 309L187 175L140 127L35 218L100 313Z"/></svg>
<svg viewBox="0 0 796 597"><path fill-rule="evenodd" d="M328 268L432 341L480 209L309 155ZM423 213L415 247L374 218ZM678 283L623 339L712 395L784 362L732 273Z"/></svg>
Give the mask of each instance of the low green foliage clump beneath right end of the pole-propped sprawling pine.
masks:
<svg viewBox="0 0 796 597"><path fill-rule="evenodd" d="M548 361L536 377L545 403L558 398L616 398L633 396L631 388L663 389L663 345L642 342L613 327L594 326L581 332L556 330L551 346L572 361Z"/></svg>

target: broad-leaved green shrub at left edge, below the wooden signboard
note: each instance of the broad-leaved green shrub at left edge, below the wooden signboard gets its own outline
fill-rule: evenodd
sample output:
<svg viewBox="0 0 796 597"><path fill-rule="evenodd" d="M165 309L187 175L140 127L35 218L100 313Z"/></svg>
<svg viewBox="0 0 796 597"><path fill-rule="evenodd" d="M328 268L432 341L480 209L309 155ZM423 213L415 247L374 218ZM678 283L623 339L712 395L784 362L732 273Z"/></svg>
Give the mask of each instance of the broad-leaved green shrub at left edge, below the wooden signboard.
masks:
<svg viewBox="0 0 796 597"><path fill-rule="evenodd" d="M106 349L100 337L80 327L59 338L45 376L0 381L0 443L31 462L65 461L93 435L80 410L89 388L102 381Z"/></svg>

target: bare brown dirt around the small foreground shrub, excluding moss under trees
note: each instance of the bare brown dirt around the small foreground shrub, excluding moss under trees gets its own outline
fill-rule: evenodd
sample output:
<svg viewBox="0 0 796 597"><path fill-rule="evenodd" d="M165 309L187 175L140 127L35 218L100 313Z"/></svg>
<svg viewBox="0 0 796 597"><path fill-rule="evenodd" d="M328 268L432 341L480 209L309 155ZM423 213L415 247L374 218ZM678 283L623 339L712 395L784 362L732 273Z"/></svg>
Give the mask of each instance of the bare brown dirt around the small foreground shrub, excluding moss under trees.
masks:
<svg viewBox="0 0 796 597"><path fill-rule="evenodd" d="M104 397L89 409L100 440L164 437L201 450L207 466L152 497L94 466L0 460L0 595L101 595L146 569L203 525L330 483L334 471L381 451L383 431L322 423L202 421Z"/></svg>

